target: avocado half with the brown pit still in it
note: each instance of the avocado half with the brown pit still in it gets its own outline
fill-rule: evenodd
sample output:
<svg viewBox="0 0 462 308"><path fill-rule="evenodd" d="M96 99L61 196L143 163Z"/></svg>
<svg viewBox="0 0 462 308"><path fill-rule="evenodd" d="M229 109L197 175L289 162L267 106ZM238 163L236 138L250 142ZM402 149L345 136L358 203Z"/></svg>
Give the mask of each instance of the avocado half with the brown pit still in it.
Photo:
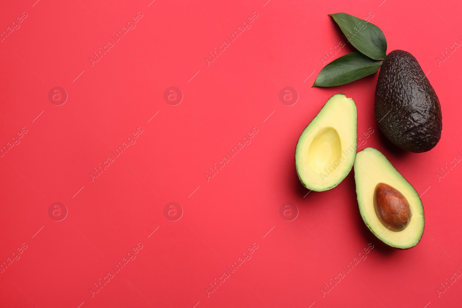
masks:
<svg viewBox="0 0 462 308"><path fill-rule="evenodd" d="M354 179L366 226L385 244L417 245L424 233L424 207L414 187L374 148L356 153Z"/></svg>

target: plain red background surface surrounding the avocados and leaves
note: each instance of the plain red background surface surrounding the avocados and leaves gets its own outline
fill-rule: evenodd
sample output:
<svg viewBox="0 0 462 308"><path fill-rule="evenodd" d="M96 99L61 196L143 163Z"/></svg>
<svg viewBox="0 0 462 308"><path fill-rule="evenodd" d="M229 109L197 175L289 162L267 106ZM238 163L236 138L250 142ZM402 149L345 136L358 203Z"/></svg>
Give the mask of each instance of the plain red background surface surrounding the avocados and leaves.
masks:
<svg viewBox="0 0 462 308"><path fill-rule="evenodd" d="M27 248L0 274L1 307L460 307L462 282L436 291L462 273L462 167L437 176L462 158L462 51L436 60L462 42L460 1L18 2L0 10L1 31L27 14L0 43L1 146L27 133L1 157L0 260ZM93 53L137 12L136 28L92 66ZM209 52L253 12L251 28L207 66ZM346 42L327 15L336 12L371 12L387 51L407 50L430 71L444 119L434 149L403 152L383 137L377 73L310 88L324 53ZM68 95L61 106L48 100L55 86ZM170 86L184 96L176 106L163 98ZM292 106L279 100L285 86L298 91ZM358 106L358 135L374 129L358 151L382 151L424 193L416 247L386 247L366 229L353 171L323 193L306 195L299 183L298 136L337 92ZM136 143L91 181L138 127ZM205 172L253 127L251 144L207 182ZM48 214L54 202L67 208L62 221ZM164 216L169 202L182 207L177 221ZM285 202L298 207L293 221L280 217ZM136 259L92 297L93 284L137 243ZM251 259L207 296L253 243ZM367 259L323 297L324 284L369 243Z"/></svg>

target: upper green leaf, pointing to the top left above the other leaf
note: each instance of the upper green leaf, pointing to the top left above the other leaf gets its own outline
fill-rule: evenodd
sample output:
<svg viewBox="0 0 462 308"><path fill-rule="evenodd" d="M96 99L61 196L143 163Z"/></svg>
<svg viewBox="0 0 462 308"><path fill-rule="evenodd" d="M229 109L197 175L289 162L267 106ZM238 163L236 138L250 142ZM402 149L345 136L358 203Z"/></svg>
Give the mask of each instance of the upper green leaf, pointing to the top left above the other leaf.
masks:
<svg viewBox="0 0 462 308"><path fill-rule="evenodd" d="M387 40L375 24L346 13L330 14L340 30L359 52L375 60L385 60Z"/></svg>

